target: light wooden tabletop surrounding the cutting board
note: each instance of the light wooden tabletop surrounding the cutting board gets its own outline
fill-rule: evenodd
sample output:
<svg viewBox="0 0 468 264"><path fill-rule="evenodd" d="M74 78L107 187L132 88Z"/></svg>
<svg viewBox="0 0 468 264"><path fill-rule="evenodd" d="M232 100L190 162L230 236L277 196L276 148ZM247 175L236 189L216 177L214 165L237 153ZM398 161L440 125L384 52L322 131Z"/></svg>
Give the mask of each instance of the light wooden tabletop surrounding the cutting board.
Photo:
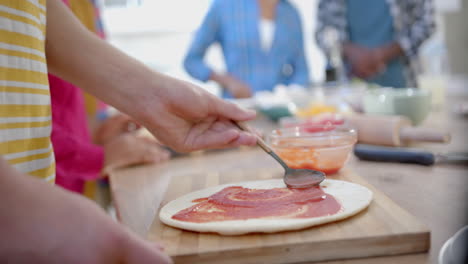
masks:
<svg viewBox="0 0 468 264"><path fill-rule="evenodd" d="M468 97L449 97L447 106ZM450 109L447 107L447 109ZM260 121L260 123L265 120ZM417 144L434 152L468 151L468 119L455 116L450 111L431 113L425 121L427 126L449 128L452 141L449 144ZM268 124L260 124L268 126ZM228 150L242 156L245 150ZM237 154L235 154L237 153ZM219 155L192 154L169 162L178 164L181 170L187 159L200 166L223 166L236 168L235 162L220 162ZM184 161L185 160L185 161ZM211 163L211 161L213 161ZM246 169L259 166L255 160L244 164ZM111 191L119 220L142 237L147 237L156 211L170 182L170 173L165 173L168 164L140 166L112 173ZM409 211L431 230L429 253L392 257L343 260L327 263L436 263L443 243L457 230L468 224L468 167L461 165L437 164L426 167L411 164L376 163L357 160L352 157L347 169L353 170L370 184L388 195L399 206ZM157 180L156 180L157 179ZM156 190L156 191L155 191ZM339 249L337 249L339 250Z"/></svg>

